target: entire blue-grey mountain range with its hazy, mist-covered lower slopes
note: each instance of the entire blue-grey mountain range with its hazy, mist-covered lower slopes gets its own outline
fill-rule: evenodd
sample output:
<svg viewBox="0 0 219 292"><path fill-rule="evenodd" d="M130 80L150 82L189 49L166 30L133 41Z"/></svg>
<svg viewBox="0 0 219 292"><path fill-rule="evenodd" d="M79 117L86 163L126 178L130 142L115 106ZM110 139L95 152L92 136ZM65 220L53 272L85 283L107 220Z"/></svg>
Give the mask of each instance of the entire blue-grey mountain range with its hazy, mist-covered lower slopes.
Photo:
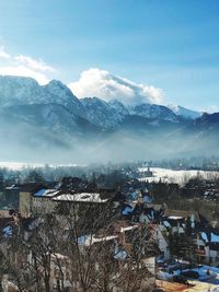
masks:
<svg viewBox="0 0 219 292"><path fill-rule="evenodd" d="M107 161L218 151L219 114L77 98L62 82L0 77L0 160ZM211 153L211 154L212 154Z"/></svg>

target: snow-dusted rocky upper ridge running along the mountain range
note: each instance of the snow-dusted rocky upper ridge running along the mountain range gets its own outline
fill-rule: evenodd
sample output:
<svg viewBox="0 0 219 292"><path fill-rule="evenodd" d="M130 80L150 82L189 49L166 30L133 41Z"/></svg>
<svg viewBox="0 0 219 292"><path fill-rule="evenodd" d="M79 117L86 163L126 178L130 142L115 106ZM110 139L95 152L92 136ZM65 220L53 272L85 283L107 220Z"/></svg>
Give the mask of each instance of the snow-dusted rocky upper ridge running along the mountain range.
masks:
<svg viewBox="0 0 219 292"><path fill-rule="evenodd" d="M162 106L157 104L138 104L125 106L119 100L104 102L99 97L78 100L71 90L58 80L51 80L42 86L34 79L20 77L0 77L0 106L18 105L48 105L64 106L66 110L85 118L90 122L103 128L116 128L129 116L150 122L180 122L184 119L196 119L201 116L182 106ZM47 108L49 108L47 106ZM132 117L131 117L132 116Z"/></svg>

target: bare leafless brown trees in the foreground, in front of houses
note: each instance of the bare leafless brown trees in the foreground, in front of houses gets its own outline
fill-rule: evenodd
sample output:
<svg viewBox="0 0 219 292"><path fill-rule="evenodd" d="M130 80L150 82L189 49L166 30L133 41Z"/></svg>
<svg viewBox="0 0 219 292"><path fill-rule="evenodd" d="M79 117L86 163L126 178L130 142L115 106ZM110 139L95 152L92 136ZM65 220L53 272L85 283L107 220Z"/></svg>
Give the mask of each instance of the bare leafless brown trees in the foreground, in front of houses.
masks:
<svg viewBox="0 0 219 292"><path fill-rule="evenodd" d="M111 205L65 203L37 219L16 218L0 244L0 275L19 291L152 291L150 231L134 229L126 248L113 214Z"/></svg>

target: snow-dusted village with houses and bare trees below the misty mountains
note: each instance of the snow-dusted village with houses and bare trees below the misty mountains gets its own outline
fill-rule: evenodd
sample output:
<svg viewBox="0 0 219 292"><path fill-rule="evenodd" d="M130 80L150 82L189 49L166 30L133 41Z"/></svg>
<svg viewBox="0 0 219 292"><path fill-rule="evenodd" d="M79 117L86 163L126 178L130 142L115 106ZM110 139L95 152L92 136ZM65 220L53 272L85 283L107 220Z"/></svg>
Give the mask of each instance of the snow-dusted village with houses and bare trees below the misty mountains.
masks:
<svg viewBox="0 0 219 292"><path fill-rule="evenodd" d="M194 207L218 202L218 177L155 183L149 166L5 177L0 291L219 291L217 213Z"/></svg>

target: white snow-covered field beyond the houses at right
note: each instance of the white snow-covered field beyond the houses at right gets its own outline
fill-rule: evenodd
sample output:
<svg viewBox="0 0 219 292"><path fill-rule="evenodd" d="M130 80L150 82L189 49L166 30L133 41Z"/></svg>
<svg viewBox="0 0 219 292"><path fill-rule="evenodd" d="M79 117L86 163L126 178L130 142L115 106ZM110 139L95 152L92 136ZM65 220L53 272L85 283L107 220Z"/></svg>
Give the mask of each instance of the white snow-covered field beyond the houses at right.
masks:
<svg viewBox="0 0 219 292"><path fill-rule="evenodd" d="M141 167L139 172L146 172L148 168ZM148 182L161 182L163 183L177 183L180 185L187 182L189 178L197 175L203 176L204 178L219 176L219 173L216 172L204 172L204 171L172 171L168 168L151 167L150 171L153 173L152 177L141 177L140 180Z"/></svg>

